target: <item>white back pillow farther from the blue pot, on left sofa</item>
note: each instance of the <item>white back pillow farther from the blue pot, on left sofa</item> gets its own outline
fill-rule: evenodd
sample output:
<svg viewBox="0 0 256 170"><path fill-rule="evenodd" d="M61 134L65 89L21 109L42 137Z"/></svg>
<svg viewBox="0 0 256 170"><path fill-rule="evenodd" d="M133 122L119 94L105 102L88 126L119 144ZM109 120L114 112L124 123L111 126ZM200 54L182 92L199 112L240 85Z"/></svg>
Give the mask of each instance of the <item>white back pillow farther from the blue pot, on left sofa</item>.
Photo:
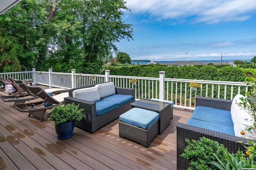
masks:
<svg viewBox="0 0 256 170"><path fill-rule="evenodd" d="M98 84L95 87L99 89L100 98L116 94L116 88L113 82Z"/></svg>

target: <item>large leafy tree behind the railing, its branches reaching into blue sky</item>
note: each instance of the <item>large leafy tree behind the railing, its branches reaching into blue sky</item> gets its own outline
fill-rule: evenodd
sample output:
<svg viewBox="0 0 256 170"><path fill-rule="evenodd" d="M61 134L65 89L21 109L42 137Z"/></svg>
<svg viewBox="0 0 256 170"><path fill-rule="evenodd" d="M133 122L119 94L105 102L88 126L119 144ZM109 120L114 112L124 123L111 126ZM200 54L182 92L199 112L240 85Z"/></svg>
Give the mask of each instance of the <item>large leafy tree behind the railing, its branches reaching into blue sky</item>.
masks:
<svg viewBox="0 0 256 170"><path fill-rule="evenodd" d="M62 0L56 14L58 33L52 46L54 68L62 63L78 72L99 73L102 59L110 49L118 51L115 42L122 38L132 39L130 24L122 22L122 10L128 10L123 0ZM66 69L71 69L71 67ZM62 69L63 70L63 69Z"/></svg>

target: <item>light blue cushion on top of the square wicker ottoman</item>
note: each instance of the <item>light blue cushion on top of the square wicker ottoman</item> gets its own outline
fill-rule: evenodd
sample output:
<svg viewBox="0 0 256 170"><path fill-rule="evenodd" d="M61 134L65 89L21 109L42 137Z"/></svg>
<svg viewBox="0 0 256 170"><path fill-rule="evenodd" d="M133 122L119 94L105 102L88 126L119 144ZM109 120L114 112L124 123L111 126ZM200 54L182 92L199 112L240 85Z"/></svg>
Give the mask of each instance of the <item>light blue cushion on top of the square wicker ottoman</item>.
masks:
<svg viewBox="0 0 256 170"><path fill-rule="evenodd" d="M120 115L119 120L131 125L148 129L159 119L159 113L134 107Z"/></svg>

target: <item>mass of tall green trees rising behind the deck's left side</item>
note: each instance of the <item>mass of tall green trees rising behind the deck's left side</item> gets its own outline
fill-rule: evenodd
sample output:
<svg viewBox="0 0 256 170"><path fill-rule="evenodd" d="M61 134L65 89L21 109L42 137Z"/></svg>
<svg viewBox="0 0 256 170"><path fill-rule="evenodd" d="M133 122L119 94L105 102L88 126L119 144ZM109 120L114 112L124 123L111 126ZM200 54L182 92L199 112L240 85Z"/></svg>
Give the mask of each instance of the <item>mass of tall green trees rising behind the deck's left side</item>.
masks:
<svg viewBox="0 0 256 170"><path fill-rule="evenodd" d="M118 51L115 43L132 40L131 25L122 21L125 3L22 0L0 16L0 71L99 73L110 51Z"/></svg>

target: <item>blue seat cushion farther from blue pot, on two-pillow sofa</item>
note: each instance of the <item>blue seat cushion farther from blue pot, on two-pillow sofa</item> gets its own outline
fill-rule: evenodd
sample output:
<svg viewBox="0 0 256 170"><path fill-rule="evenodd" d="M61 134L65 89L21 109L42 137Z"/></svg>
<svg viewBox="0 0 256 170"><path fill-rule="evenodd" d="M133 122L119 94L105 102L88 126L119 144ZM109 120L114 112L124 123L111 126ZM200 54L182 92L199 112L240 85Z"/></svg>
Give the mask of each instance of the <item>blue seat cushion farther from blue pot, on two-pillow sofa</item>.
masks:
<svg viewBox="0 0 256 170"><path fill-rule="evenodd" d="M118 103L119 106L124 105L125 103L128 103L129 101L132 101L133 96L132 95L119 95L119 94L115 94L115 95L110 95L108 97L104 97L100 100L102 101L113 101Z"/></svg>

